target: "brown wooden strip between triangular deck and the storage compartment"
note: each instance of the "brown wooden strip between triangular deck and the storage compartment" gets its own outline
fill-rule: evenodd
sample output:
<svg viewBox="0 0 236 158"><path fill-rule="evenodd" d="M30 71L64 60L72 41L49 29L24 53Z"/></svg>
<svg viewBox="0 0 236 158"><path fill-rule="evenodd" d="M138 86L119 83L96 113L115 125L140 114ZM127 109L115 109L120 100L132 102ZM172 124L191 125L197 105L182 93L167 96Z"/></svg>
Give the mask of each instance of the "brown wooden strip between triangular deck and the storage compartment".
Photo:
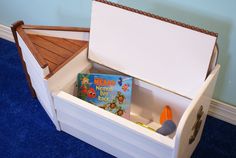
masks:
<svg viewBox="0 0 236 158"><path fill-rule="evenodd" d="M83 47L81 47L76 53L74 53L72 56L70 56L66 61L64 61L61 65L59 65L55 70L51 71L50 74L48 74L45 79L48 80L51 76L53 76L57 71L59 71L63 66L65 66L67 63L69 63L72 59L74 59L79 53L81 53L85 48L88 48L88 43L85 44Z"/></svg>

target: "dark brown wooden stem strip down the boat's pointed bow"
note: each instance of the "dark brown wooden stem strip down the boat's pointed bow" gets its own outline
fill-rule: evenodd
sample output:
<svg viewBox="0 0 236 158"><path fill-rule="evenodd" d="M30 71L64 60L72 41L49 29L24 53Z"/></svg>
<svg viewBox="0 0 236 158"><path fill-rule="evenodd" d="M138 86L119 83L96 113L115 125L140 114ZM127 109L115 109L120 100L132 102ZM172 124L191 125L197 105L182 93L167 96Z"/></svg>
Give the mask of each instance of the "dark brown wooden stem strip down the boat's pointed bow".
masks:
<svg viewBox="0 0 236 158"><path fill-rule="evenodd" d="M17 34L16 34L17 27L21 26L23 24L24 24L23 21L17 21L14 24L12 24L11 30L12 30L13 37L15 39L16 47L17 47L18 54L20 56L20 60L21 60L22 66L23 66L23 70L24 70L24 73L25 73L25 76L26 76L26 79L27 79L27 82L28 82L28 86L30 88L31 95L32 95L33 98L35 98L36 97L36 93L35 93L35 90L34 90L34 88L32 86L29 74L27 72L26 65L25 65L25 62L24 62L23 57L22 57L22 51L21 51L21 48L20 48L20 45L19 45L19 42L18 42L18 39L17 39Z"/></svg>

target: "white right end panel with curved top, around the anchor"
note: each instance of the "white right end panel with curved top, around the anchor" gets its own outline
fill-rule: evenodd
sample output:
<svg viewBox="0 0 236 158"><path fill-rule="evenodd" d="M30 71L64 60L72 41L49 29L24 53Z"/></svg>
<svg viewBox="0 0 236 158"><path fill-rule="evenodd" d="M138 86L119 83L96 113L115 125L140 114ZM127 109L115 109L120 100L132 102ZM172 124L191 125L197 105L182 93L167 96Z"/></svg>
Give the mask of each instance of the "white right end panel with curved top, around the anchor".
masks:
<svg viewBox="0 0 236 158"><path fill-rule="evenodd" d="M186 109L183 114L175 137L175 152L174 157L178 158L188 158L191 156L192 152L196 148L202 134L202 130L205 124L206 115L208 113L211 97L214 92L215 83L218 77L220 65L217 65L212 73L208 76L200 90L198 91L196 97L193 99L190 106ZM197 113L200 108L203 106L204 114L201 118L202 125L196 136L195 141L192 144L189 144L189 138L193 134L193 125L197 119Z"/></svg>

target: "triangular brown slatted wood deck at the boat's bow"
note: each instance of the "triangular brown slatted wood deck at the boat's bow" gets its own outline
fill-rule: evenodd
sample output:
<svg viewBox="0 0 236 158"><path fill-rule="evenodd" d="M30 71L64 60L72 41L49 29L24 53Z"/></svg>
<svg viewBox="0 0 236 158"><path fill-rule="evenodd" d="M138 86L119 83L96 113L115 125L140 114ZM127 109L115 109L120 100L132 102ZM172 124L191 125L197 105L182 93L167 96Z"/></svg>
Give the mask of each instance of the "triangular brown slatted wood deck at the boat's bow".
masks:
<svg viewBox="0 0 236 158"><path fill-rule="evenodd" d="M51 36L28 34L31 42L49 65L50 73L55 73L68 60L87 46L87 41L64 39Z"/></svg>

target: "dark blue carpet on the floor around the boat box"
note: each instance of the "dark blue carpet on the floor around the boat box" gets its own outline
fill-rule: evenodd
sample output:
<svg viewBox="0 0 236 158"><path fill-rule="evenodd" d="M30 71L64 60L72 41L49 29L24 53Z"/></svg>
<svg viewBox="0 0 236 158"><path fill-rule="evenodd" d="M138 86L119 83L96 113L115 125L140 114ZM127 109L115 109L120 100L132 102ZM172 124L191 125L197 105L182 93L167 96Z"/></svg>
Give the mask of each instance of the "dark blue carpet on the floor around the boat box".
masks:
<svg viewBox="0 0 236 158"><path fill-rule="evenodd" d="M113 157L55 129L38 100L31 97L15 44L1 38L0 157ZM192 158L233 157L236 127L208 116Z"/></svg>

